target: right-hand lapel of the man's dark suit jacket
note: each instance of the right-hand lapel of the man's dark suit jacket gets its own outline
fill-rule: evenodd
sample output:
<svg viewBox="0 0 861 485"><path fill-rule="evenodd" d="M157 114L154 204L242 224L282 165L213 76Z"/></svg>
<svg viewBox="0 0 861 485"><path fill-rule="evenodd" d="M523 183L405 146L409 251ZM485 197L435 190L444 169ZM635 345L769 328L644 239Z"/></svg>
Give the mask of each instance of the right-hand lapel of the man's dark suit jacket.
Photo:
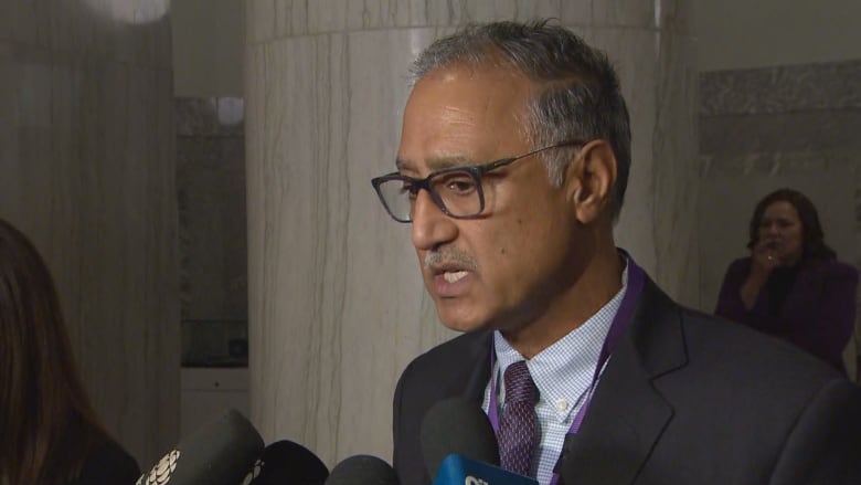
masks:
<svg viewBox="0 0 861 485"><path fill-rule="evenodd" d="M678 306L647 280L580 432L565 441L556 465L563 483L633 483L672 419L652 380L685 362Z"/></svg>

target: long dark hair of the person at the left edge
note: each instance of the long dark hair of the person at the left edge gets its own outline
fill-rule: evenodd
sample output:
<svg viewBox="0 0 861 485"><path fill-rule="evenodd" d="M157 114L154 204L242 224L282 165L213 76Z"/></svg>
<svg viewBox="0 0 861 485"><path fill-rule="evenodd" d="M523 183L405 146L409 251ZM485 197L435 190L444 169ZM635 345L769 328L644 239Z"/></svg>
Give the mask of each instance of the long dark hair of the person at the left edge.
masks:
<svg viewBox="0 0 861 485"><path fill-rule="evenodd" d="M0 483L73 482L107 433L77 375L54 281L0 219Z"/></svg>

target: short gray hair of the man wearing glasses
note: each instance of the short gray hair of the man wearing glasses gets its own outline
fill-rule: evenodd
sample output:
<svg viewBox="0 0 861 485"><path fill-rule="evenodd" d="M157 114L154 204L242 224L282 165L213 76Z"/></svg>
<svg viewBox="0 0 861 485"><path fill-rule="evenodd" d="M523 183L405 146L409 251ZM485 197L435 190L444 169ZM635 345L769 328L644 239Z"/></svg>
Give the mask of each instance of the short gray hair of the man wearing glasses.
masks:
<svg viewBox="0 0 861 485"><path fill-rule="evenodd" d="M534 148L607 140L617 162L612 209L618 217L630 170L630 122L618 76L605 53L548 20L470 24L422 52L411 70L413 81L458 63L514 68L543 85L528 107L524 127ZM573 155L572 149L543 155L555 186L562 184Z"/></svg>

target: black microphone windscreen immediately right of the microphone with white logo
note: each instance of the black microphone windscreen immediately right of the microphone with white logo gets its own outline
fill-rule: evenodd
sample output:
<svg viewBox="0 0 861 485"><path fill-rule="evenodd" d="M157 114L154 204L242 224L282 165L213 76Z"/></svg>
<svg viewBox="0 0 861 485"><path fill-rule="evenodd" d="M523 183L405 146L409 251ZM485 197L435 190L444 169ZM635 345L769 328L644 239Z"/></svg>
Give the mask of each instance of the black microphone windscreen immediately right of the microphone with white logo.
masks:
<svg viewBox="0 0 861 485"><path fill-rule="evenodd" d="M322 485L329 468L310 450L289 440L270 443L248 485Z"/></svg>

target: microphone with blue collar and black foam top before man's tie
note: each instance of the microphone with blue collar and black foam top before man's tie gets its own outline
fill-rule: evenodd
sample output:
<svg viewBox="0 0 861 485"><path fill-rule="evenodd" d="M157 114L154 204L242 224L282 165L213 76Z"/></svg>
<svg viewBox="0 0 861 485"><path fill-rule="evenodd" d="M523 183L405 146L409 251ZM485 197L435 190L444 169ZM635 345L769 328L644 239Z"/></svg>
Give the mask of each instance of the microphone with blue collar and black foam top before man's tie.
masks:
<svg viewBox="0 0 861 485"><path fill-rule="evenodd" d="M434 485L538 485L499 467L499 446L485 411L460 398L434 404L421 429L422 452Z"/></svg>

